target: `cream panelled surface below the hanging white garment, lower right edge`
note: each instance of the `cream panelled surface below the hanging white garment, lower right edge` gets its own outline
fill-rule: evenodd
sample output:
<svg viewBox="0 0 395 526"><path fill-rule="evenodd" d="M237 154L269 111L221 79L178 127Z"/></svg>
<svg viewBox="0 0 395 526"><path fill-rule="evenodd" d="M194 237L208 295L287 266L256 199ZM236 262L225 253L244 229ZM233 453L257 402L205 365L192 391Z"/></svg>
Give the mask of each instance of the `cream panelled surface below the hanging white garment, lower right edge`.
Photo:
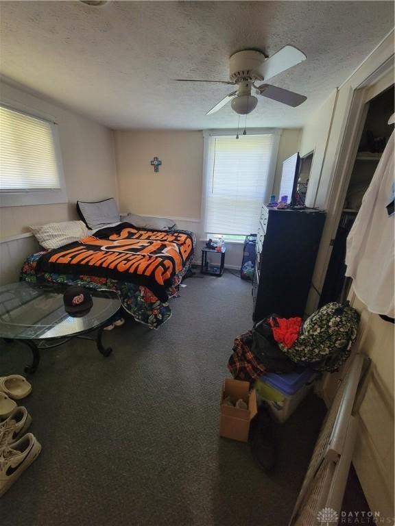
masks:
<svg viewBox="0 0 395 526"><path fill-rule="evenodd" d="M372 360L352 461L370 508L394 517L394 325L369 312L357 297L351 305L361 313L359 350Z"/></svg>

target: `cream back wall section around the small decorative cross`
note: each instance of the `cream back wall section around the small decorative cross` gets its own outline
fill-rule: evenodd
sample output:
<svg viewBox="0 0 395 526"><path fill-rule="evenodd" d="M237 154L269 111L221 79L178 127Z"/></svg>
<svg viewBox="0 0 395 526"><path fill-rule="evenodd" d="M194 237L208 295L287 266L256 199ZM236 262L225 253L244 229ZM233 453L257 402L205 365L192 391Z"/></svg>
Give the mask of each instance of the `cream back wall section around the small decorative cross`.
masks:
<svg viewBox="0 0 395 526"><path fill-rule="evenodd" d="M202 132L115 132L119 205L125 212L200 219ZM150 161L162 162L158 173Z"/></svg>

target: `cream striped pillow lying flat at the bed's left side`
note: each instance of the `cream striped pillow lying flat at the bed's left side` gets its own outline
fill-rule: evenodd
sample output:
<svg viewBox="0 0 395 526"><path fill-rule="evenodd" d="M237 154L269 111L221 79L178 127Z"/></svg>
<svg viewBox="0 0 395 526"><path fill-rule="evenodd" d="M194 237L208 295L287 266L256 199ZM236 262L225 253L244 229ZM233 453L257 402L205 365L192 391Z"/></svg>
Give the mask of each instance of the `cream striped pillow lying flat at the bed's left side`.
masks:
<svg viewBox="0 0 395 526"><path fill-rule="evenodd" d="M64 221L63 223L47 223L29 227L36 236L41 247L58 249L67 243L78 241L88 236L88 229L82 221Z"/></svg>

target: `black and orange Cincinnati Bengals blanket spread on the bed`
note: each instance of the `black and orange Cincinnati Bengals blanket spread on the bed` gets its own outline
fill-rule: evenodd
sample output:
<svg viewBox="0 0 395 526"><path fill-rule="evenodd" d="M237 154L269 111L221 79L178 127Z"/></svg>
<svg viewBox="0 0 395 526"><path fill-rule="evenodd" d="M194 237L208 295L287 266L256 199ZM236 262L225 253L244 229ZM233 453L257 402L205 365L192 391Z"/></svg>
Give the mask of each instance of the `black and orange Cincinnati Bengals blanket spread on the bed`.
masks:
<svg viewBox="0 0 395 526"><path fill-rule="evenodd" d="M167 301L166 289L192 255L193 238L187 231L139 229L121 223L43 254L36 269L130 281Z"/></svg>

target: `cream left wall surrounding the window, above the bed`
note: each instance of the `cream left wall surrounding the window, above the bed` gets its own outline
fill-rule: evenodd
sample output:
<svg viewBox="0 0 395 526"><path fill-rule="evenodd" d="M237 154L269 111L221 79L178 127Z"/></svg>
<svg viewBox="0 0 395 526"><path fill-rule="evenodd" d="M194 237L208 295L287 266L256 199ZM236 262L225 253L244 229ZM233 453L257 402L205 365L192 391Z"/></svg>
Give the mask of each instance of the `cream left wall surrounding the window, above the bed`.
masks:
<svg viewBox="0 0 395 526"><path fill-rule="evenodd" d="M29 231L28 225L77 219L77 199L117 198L112 131L56 103L1 84L1 97L38 112L58 123L68 203L0 208L0 237Z"/></svg>

